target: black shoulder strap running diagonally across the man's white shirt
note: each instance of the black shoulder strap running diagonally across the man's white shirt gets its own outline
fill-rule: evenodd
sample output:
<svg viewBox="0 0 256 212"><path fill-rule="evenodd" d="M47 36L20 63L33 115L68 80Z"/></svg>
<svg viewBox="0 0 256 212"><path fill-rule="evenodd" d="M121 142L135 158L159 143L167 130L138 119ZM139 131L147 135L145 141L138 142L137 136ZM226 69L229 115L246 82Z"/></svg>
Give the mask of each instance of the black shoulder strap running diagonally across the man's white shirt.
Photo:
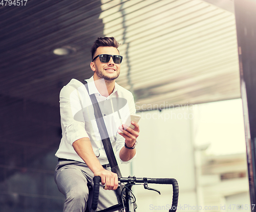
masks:
<svg viewBox="0 0 256 212"><path fill-rule="evenodd" d="M82 81L82 83L84 84L84 86L86 86L86 89L89 93L87 81ZM106 152L106 156L108 157L108 160L109 160L109 163L110 163L110 166L111 166L111 170L112 170L112 172L116 173L118 175L118 177L122 177L120 169L119 169L117 161L116 161L116 157L115 157L111 142L110 142L108 131L106 130L106 126L105 126L105 123L104 123L104 120L103 120L102 113L100 111L98 101L97 101L94 94L89 95L89 96L90 96L91 101L93 103L95 119L96 119L96 122L97 122L97 126L98 126L98 129L99 129L101 139L103 138L102 143L103 143L103 146L104 146L104 149L105 149L105 152Z"/></svg>

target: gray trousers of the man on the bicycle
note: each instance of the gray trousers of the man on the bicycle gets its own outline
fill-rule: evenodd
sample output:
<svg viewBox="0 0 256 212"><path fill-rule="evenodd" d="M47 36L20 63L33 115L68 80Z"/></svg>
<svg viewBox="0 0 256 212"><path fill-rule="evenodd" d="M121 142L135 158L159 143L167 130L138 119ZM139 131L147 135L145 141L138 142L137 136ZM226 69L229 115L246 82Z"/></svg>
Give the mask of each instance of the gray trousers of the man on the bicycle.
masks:
<svg viewBox="0 0 256 212"><path fill-rule="evenodd" d="M110 168L106 169L111 171ZM87 206L89 211L93 211L92 192L89 193L87 186L88 182L93 186L93 177L93 172L85 163L72 160L58 161L54 179L58 190L66 197L63 212L84 212ZM100 183L96 211L115 204L118 204L115 191L104 190Z"/></svg>

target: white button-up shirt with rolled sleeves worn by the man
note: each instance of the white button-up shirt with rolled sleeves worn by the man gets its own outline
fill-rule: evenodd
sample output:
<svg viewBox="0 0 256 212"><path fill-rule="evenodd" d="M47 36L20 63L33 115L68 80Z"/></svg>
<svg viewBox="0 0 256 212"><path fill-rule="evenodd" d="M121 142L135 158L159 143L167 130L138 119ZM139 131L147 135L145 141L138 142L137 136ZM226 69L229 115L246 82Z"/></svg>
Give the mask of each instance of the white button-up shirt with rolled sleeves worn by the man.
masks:
<svg viewBox="0 0 256 212"><path fill-rule="evenodd" d="M108 131L116 157L124 146L124 138L117 133L118 127L135 114L135 104L132 93L115 83L115 88L109 97L100 95L91 77L88 82L89 93L86 87L78 80L72 79L64 86L59 95L62 138L55 156L84 162L75 152L72 144L83 137L91 140L94 154L101 164L109 163L101 141L98 126L94 116L94 109L89 95L93 93L101 109L101 113ZM115 148L116 147L116 148ZM135 158L135 157L134 157Z"/></svg>

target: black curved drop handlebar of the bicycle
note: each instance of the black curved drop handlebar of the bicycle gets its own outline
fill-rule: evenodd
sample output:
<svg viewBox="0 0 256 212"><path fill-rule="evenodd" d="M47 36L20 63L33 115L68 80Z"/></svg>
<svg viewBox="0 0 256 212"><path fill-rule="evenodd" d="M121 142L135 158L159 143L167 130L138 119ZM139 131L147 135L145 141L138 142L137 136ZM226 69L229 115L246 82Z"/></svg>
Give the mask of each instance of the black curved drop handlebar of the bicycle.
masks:
<svg viewBox="0 0 256 212"><path fill-rule="evenodd" d="M121 182L127 183L154 183L154 184L172 184L173 185L173 202L172 207L169 209L169 212L175 212L178 205L179 197L179 185L176 179L174 178L136 178L136 177L118 177L119 184ZM93 201L92 209L96 209L98 206L99 199L99 183L101 182L100 176L95 176L93 178L94 189L93 189Z"/></svg>

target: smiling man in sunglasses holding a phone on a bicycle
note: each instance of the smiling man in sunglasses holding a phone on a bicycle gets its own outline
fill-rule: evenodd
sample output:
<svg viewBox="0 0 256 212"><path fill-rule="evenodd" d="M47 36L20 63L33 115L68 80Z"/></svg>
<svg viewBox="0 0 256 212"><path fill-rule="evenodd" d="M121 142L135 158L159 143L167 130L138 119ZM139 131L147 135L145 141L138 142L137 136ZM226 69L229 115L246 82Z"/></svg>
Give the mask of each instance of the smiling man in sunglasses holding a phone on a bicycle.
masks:
<svg viewBox="0 0 256 212"><path fill-rule="evenodd" d="M66 197L65 212L84 212L87 206L91 210L87 183L93 184L94 176L100 176L102 184L96 210L118 203L114 191L118 177L109 167L89 95L95 94L99 102L116 157L127 163L136 156L139 125L132 122L133 130L122 124L136 112L133 95L115 82L122 61L118 45L114 37L98 38L94 42L90 64L94 75L86 80L89 93L83 83L75 79L60 91L62 138L55 154L59 158L55 182Z"/></svg>

